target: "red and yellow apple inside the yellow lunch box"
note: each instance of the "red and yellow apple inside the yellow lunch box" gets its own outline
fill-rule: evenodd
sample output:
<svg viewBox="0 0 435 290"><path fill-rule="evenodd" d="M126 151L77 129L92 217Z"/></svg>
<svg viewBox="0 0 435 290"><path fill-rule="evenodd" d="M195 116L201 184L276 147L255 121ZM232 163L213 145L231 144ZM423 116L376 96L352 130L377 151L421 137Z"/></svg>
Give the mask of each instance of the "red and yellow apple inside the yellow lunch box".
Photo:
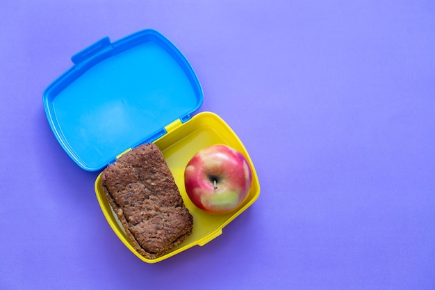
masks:
<svg viewBox="0 0 435 290"><path fill-rule="evenodd" d="M197 152L184 171L190 200L210 214L227 214L239 207L251 188L252 171L245 156L227 145Z"/></svg>

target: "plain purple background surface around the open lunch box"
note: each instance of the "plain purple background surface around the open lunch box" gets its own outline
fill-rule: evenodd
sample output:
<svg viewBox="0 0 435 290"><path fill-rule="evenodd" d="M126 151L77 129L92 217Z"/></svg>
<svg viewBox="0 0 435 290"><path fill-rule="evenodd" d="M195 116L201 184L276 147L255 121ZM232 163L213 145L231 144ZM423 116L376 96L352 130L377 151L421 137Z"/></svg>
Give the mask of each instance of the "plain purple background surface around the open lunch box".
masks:
<svg viewBox="0 0 435 290"><path fill-rule="evenodd" d="M348 2L2 0L0 289L435 289L435 2ZM261 184L157 264L117 239L42 107L73 54L146 28Z"/></svg>

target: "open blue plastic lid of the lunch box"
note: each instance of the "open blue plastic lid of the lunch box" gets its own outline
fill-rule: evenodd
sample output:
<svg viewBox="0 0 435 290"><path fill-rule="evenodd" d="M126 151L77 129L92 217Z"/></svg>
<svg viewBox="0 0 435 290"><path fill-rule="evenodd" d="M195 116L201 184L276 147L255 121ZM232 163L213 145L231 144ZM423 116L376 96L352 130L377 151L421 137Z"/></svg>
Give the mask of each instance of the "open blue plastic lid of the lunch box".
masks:
<svg viewBox="0 0 435 290"><path fill-rule="evenodd" d="M116 42L106 37L71 59L74 65L46 88L43 102L60 145L84 170L100 170L156 140L202 104L190 63L157 31Z"/></svg>

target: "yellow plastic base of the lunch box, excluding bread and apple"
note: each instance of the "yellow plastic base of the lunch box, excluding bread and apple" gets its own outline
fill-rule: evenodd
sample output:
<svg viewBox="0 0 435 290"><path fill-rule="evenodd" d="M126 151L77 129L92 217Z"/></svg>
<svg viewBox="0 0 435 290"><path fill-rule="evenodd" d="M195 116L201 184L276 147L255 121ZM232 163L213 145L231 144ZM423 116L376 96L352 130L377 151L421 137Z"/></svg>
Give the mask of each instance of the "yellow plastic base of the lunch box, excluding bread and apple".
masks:
<svg viewBox="0 0 435 290"><path fill-rule="evenodd" d="M192 235L167 255L157 259L147 259L134 250L133 246L126 238L122 225L120 225L117 220L117 216L113 213L113 210L108 204L106 196L102 191L101 175L99 175L95 181L95 193L97 194L101 210L103 211L104 216L106 216L110 227L112 227L115 234L120 238L124 245L131 250L131 252L147 263L162 261L163 259L172 257L195 245L205 245L209 241L215 239L217 236L222 234L222 229L225 225L228 225L231 220L245 211L252 203L254 203L260 194L260 185L258 183L256 170L247 150L231 127L214 113L198 113L188 122L183 124L179 123L178 125L171 127L171 129L168 129L167 134L156 140L154 143L156 143L156 145L158 145L162 150L167 165L170 167L175 182L179 187L181 197L193 216L194 223ZM249 191L248 197L245 202L236 209L236 211L229 214L213 215L207 214L205 211L198 209L189 200L188 195L186 194L186 189L184 188L184 168L186 168L188 161L192 158L193 154L213 144L226 144L238 150L245 155L252 168L252 187Z"/></svg>

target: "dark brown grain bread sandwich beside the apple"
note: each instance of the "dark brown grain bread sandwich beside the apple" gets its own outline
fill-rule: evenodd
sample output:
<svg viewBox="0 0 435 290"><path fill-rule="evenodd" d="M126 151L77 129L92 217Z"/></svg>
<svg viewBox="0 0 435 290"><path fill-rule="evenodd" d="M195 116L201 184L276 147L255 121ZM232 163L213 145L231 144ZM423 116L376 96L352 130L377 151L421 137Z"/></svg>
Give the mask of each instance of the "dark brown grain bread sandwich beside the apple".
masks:
<svg viewBox="0 0 435 290"><path fill-rule="evenodd" d="M147 259L165 255L192 233L192 215L154 143L120 156L102 172L101 185L131 245Z"/></svg>

